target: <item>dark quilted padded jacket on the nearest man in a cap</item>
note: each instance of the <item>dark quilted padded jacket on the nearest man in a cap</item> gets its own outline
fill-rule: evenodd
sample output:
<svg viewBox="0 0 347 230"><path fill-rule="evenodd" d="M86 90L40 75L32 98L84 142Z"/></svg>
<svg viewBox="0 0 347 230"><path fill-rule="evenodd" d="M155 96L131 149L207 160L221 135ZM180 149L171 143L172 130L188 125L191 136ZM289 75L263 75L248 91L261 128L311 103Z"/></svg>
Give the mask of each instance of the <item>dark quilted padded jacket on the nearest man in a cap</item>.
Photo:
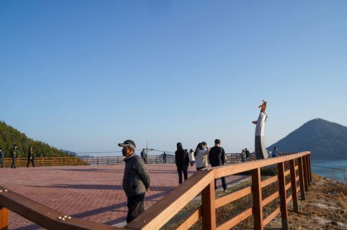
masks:
<svg viewBox="0 0 347 230"><path fill-rule="evenodd" d="M123 189L127 197L146 193L146 189L151 186L149 171L135 153L124 159L126 168L123 176Z"/></svg>

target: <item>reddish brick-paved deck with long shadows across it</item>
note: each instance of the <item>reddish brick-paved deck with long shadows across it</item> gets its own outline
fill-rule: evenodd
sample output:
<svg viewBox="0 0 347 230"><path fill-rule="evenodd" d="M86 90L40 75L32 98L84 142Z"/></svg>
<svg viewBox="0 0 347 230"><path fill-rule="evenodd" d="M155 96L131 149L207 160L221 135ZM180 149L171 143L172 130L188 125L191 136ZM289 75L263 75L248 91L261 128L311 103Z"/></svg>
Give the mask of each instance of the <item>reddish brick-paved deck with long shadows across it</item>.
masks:
<svg viewBox="0 0 347 230"><path fill-rule="evenodd" d="M147 168L151 191L146 193L145 209L178 186L173 163L148 164ZM123 171L124 165L0 168L0 184L74 218L114 225L126 220L126 195L121 187ZM188 176L194 172L195 166L189 166ZM232 184L244 178L226 179ZM221 187L220 179L217 186ZM10 211L9 229L43 228Z"/></svg>

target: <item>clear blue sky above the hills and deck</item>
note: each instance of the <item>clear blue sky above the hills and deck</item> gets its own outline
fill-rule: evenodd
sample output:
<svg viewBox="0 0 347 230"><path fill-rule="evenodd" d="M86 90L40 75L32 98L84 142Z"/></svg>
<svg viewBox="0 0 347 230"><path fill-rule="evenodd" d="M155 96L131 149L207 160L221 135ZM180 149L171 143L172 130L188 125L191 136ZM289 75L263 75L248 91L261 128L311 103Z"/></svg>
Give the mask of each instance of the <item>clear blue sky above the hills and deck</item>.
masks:
<svg viewBox="0 0 347 230"><path fill-rule="evenodd" d="M346 12L346 0L0 1L0 119L74 152L126 139L253 151L262 99L267 146L313 118L347 126Z"/></svg>

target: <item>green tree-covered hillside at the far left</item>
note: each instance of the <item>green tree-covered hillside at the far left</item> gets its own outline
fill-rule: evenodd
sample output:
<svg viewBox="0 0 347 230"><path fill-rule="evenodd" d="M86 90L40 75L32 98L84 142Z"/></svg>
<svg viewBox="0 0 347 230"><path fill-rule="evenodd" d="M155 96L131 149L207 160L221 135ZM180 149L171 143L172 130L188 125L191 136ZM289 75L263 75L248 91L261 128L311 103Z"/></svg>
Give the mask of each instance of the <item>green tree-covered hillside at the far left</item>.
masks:
<svg viewBox="0 0 347 230"><path fill-rule="evenodd" d="M21 157L28 157L28 149L33 147L35 157L75 157L75 154L69 154L57 148L51 147L48 143L34 141L28 138L26 134L19 132L14 127L0 121L0 147L5 153L5 157L10 157L10 149L17 144Z"/></svg>

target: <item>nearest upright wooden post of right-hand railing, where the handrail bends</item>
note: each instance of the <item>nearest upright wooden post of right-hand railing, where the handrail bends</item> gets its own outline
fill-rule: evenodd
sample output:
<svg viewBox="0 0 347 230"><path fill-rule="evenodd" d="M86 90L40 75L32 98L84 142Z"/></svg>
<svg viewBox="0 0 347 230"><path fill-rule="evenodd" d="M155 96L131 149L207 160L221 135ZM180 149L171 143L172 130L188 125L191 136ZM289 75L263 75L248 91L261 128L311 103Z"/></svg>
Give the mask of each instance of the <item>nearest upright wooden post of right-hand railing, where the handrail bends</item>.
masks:
<svg viewBox="0 0 347 230"><path fill-rule="evenodd" d="M214 180L201 192L203 230L216 229L216 208L214 205Z"/></svg>

